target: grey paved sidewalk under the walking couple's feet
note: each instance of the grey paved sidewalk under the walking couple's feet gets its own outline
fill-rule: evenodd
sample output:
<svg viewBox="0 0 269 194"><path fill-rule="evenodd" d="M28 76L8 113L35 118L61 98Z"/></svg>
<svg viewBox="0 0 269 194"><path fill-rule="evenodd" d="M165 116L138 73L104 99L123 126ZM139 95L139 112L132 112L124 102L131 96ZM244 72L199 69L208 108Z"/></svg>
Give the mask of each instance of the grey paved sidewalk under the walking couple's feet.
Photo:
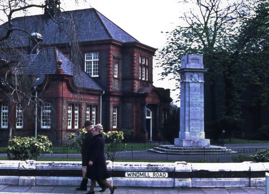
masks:
<svg viewBox="0 0 269 194"><path fill-rule="evenodd" d="M100 188L95 188L98 194ZM139 187L118 187L115 194L265 194L265 187L243 187L243 188L139 188ZM63 193L63 194L84 194L86 191L77 191L75 186L18 186L0 184L0 194L33 194L33 193ZM107 189L104 194L109 194ZM101 193L100 193L101 194Z"/></svg>

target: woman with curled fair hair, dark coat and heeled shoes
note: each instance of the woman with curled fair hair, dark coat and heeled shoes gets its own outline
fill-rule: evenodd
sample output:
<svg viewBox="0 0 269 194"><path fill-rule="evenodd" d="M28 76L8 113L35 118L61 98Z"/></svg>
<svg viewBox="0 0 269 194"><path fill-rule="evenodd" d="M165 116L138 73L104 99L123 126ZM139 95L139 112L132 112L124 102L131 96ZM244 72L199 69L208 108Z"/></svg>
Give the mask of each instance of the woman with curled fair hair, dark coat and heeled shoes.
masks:
<svg viewBox="0 0 269 194"><path fill-rule="evenodd" d="M110 189L113 194L115 186L112 186L106 179L109 177L107 164L104 156L104 139L102 136L103 126L97 124L93 127L93 141L89 149L89 166L87 167L86 176L91 179L91 188L87 194L94 194L95 182L99 181Z"/></svg>

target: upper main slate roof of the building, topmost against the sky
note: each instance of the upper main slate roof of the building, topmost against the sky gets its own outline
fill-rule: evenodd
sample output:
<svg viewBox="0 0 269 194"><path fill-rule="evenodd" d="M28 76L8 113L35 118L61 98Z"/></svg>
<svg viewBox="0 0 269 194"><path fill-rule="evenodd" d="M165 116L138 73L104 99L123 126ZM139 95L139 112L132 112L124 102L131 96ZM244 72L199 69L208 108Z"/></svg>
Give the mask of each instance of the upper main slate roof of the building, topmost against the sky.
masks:
<svg viewBox="0 0 269 194"><path fill-rule="evenodd" d="M123 43L139 42L94 8L61 12L61 15L63 17L59 19L59 23L63 29L59 29L58 24L47 19L44 14L16 17L12 20L13 28L23 29L30 33L38 32L43 36L44 43L49 45L69 43L72 28L66 21L70 21L72 18L79 42L108 39L115 39ZM6 24L3 24L0 26L0 36L3 36L5 32ZM12 37L14 43L28 45L28 35L24 32L14 31Z"/></svg>

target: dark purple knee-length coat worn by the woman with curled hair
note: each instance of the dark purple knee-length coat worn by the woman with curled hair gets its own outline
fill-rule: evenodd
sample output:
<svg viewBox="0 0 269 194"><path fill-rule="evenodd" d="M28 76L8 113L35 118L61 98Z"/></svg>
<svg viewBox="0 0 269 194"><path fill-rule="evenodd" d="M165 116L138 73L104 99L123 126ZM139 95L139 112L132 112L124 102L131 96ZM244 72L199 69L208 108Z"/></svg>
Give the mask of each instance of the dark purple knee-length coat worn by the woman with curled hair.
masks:
<svg viewBox="0 0 269 194"><path fill-rule="evenodd" d="M93 137L89 150L89 161L92 161L93 165L88 166L86 176L93 180L104 180L108 178L102 134Z"/></svg>

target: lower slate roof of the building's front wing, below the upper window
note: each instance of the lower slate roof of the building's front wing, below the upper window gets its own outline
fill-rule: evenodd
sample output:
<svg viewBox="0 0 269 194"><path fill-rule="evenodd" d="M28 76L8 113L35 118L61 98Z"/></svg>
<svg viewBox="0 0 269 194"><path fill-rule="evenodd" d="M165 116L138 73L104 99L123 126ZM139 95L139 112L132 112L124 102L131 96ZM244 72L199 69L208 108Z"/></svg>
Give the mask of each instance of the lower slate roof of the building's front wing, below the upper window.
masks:
<svg viewBox="0 0 269 194"><path fill-rule="evenodd" d="M34 85L39 85L44 81L45 74L54 74L58 68L56 58L62 60L63 72L66 75L74 76L74 84L77 87L104 91L104 89L93 80L91 76L75 66L62 52L57 48L41 50L39 54L24 56L24 64L29 75L36 75L37 79ZM74 73L76 72L76 73Z"/></svg>

